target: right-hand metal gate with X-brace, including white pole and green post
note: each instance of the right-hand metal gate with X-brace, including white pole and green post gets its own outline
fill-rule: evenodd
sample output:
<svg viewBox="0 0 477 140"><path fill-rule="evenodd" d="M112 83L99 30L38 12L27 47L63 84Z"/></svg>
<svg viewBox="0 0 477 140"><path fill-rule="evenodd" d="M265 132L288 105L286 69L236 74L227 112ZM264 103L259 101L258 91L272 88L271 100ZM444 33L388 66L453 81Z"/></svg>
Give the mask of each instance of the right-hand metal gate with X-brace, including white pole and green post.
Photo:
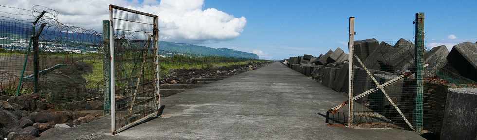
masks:
<svg viewBox="0 0 477 140"><path fill-rule="evenodd" d="M350 42L350 126L422 131L423 13L415 22L414 41Z"/></svg>

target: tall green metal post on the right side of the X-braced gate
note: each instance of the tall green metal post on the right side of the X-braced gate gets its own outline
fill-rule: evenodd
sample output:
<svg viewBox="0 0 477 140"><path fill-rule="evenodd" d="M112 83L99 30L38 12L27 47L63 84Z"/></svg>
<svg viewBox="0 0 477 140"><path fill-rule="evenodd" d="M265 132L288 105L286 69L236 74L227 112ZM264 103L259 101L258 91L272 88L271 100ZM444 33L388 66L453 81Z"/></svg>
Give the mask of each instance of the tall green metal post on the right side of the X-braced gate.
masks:
<svg viewBox="0 0 477 140"><path fill-rule="evenodd" d="M416 13L415 64L416 64L416 106L414 108L415 131L422 131L424 94L424 13Z"/></svg>

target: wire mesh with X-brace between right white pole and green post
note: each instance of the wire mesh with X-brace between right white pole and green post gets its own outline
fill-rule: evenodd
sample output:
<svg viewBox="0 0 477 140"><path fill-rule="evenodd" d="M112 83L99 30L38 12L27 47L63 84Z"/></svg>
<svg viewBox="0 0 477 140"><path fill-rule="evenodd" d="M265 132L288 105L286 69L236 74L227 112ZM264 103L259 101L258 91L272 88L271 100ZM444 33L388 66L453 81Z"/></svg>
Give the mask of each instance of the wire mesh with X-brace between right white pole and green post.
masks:
<svg viewBox="0 0 477 140"><path fill-rule="evenodd" d="M378 49L367 57L353 50L357 57L353 57L352 90L361 97L354 101L353 123L361 127L412 128L416 103L414 44L401 39L367 45Z"/></svg>

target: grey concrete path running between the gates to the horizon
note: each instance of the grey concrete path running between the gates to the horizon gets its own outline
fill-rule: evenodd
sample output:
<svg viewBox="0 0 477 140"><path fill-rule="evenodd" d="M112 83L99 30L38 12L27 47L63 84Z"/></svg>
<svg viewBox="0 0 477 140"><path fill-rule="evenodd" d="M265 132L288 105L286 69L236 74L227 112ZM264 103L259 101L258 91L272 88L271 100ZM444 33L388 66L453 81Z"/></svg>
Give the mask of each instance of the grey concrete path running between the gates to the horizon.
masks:
<svg viewBox="0 0 477 140"><path fill-rule="evenodd" d="M40 140L424 140L414 132L330 126L347 97L275 62L164 98L163 115L111 136L110 117Z"/></svg>

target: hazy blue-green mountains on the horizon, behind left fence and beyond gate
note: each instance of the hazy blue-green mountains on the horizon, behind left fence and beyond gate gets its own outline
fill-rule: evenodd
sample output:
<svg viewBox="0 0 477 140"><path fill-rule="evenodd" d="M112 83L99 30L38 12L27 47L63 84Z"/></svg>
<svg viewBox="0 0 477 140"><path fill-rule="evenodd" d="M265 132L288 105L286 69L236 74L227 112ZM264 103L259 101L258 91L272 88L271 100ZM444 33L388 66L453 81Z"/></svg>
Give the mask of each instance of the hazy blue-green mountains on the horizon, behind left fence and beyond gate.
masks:
<svg viewBox="0 0 477 140"><path fill-rule="evenodd" d="M53 29L53 30L50 30ZM0 39L3 41L0 42L0 48L5 49L26 49L28 45L29 36L31 35L31 25L25 23L15 24L15 22L0 20ZM43 30L43 33L47 35L43 36L42 39L52 40L56 39L57 36L62 36L61 38L68 39L70 36L74 35L75 39L65 40L64 42L73 42L70 44L83 44L80 46L71 46L64 43L52 44L49 48L49 51L65 51L73 50L73 52L84 52L84 51L97 51L92 47L88 46L88 42L100 42L101 33L97 35L90 35L85 33L70 33L55 30L55 28L48 28ZM43 34L42 34L43 35ZM93 36L93 37L92 37ZM94 37L97 36L97 37ZM19 40L18 40L19 39ZM8 40L8 41L7 41ZM79 41L79 42L78 42ZM83 43L80 43L83 42ZM85 50L86 49L86 50ZM200 56L224 56L224 57L235 57L235 58L251 58L259 59L257 54L248 53L243 51L237 51L227 48L211 48L207 46L199 46L193 44L185 43L173 43L167 41L159 41L159 51L164 55L171 54L191 54L191 55L200 55Z"/></svg>

